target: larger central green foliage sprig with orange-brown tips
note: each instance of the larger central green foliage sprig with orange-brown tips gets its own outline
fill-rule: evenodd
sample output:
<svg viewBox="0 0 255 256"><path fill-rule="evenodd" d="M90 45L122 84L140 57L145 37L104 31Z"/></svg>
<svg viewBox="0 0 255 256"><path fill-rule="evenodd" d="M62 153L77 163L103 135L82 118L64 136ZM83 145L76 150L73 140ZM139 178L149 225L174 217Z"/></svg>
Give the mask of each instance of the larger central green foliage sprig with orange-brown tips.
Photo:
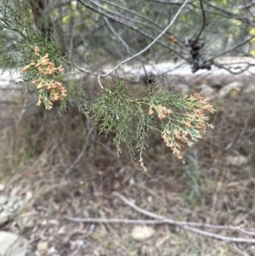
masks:
<svg viewBox="0 0 255 256"><path fill-rule="evenodd" d="M133 99L127 86L118 81L116 87L105 86L91 111L100 133L115 134L117 153L126 145L131 159L135 161L138 155L141 168L146 170L143 153L150 131L159 132L173 155L182 159L184 146L191 146L207 128L213 128L207 122L206 111L215 110L208 100L200 94L172 94L156 84L143 97Z"/></svg>

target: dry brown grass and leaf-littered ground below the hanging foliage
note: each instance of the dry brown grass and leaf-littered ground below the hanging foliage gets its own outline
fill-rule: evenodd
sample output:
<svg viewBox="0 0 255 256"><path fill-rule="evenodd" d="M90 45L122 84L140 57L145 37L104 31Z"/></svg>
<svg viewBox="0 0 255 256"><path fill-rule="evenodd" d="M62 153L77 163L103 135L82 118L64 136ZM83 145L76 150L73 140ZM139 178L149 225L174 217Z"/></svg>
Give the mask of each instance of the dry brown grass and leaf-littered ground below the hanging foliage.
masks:
<svg viewBox="0 0 255 256"><path fill-rule="evenodd" d="M255 255L255 94L215 98L215 128L184 151L185 164L151 134L146 173L116 156L111 134L89 133L88 117L56 117L32 97L24 107L21 95L1 106L0 181L5 195L28 199L1 230L26 237L28 255ZM138 224L110 219L155 233L138 240Z"/></svg>

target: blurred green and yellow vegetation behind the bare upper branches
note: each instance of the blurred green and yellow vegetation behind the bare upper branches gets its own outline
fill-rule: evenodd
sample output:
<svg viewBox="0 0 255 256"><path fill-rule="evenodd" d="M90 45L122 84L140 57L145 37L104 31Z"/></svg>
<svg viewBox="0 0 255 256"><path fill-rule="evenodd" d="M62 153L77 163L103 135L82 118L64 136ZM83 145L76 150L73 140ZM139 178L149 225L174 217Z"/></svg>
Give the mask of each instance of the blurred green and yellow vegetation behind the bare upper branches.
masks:
<svg viewBox="0 0 255 256"><path fill-rule="evenodd" d="M13 3L14 8L26 10L23 19L28 24L33 20L45 37L54 35L61 54L69 53L75 63L96 68L95 64L125 60L145 48L170 23L184 1L33 0L28 3L19 0ZM189 61L187 40L199 34L205 59L223 54L253 56L252 2L190 1L169 31L136 61L159 62L176 57ZM175 38L174 42L169 40L170 36ZM20 39L18 34L3 31L1 56L3 48L14 47Z"/></svg>

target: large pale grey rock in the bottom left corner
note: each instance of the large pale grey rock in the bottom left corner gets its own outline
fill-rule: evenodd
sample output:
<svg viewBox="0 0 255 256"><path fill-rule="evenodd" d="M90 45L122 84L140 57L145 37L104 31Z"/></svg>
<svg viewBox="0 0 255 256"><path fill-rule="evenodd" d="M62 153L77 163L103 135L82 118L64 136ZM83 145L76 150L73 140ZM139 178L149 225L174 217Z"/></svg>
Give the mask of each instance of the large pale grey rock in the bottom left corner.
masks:
<svg viewBox="0 0 255 256"><path fill-rule="evenodd" d="M0 255L25 256L28 241L13 233L0 231Z"/></svg>

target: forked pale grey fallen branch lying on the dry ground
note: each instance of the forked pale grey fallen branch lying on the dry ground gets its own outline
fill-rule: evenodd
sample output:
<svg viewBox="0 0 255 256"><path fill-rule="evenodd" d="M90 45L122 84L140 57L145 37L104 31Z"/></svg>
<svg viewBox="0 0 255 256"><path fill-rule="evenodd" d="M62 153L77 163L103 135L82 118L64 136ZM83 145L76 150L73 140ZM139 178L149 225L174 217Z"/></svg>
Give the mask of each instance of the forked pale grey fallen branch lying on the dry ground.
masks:
<svg viewBox="0 0 255 256"><path fill-rule="evenodd" d="M243 230L239 227L234 226L224 226L224 225L210 225L210 224L202 224L195 222L185 222L185 221L174 221L173 219L166 218L165 216L158 215L156 213L150 213L149 211L144 210L143 208L139 208L133 202L127 200L125 196L122 196L118 193L114 193L115 196L119 197L122 202L125 202L130 208L133 208L135 211L139 213L143 213L144 215L153 218L153 219L82 219L82 218L72 218L65 216L65 219L69 219L74 222L83 222L83 223L108 223L108 224L133 224L133 225L159 225L159 224L170 224L177 225L178 227L189 230L196 234L200 234L202 236L208 236L212 238L216 238L218 240L224 242L243 242L243 243L255 243L255 239L250 238L239 238L239 237L231 237L231 236L221 236L212 232L201 230L201 228L209 228L215 230L235 230L239 231L248 236L255 236L254 232Z"/></svg>

